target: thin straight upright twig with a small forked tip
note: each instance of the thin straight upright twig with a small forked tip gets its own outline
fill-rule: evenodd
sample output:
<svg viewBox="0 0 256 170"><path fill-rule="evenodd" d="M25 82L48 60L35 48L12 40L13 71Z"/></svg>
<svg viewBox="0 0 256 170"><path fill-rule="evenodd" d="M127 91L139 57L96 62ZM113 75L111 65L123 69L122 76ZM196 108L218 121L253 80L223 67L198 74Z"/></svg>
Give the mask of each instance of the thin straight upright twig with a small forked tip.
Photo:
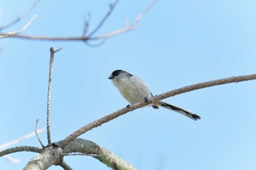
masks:
<svg viewBox="0 0 256 170"><path fill-rule="evenodd" d="M53 59L54 54L59 52L61 48L57 50L53 50L53 47L50 47L50 66L49 66L49 78L48 78L48 95L47 95L47 139L48 139L48 145L51 144L50 142L50 93L51 93L51 80L52 80L52 74L53 74Z"/></svg>

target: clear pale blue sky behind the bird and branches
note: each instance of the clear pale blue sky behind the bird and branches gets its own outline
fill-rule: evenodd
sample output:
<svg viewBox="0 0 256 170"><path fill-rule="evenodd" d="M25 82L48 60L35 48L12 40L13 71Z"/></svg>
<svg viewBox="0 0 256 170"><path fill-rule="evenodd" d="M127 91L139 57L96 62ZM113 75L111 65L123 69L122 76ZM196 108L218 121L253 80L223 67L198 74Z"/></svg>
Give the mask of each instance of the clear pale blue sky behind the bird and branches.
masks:
<svg viewBox="0 0 256 170"><path fill-rule="evenodd" d="M0 25L26 12L34 1L0 1ZM22 34L81 36L91 13L91 31L112 1L40 1L18 31ZM15 5L14 5L15 4ZM119 1L97 35L123 28L147 1ZM127 105L108 80L113 70L140 77L154 95L198 82L256 72L256 1L159 1L134 31L90 47L83 42L24 39L0 41L0 144L46 127L49 48L63 47L53 66L50 123L52 141ZM97 45L101 41L90 42ZM189 109L201 120L167 109L137 109L80 136L102 145L137 169L256 169L256 81L220 85L165 101ZM40 134L47 144L46 133ZM20 145L39 147L35 137ZM35 153L0 158L1 169L22 169ZM65 157L73 169L109 169L87 156ZM52 166L50 169L61 169Z"/></svg>

